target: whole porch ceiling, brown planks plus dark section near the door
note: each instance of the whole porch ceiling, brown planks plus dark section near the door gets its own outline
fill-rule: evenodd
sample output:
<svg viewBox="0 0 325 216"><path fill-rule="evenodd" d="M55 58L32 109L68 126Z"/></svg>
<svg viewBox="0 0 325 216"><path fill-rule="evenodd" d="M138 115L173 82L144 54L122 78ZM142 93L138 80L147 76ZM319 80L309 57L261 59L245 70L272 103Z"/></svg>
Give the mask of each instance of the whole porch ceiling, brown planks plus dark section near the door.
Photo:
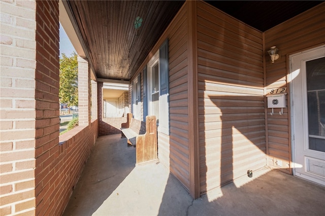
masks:
<svg viewBox="0 0 325 216"><path fill-rule="evenodd" d="M97 78L130 80L184 1L64 1ZM206 1L265 31L323 1ZM67 7L66 7L67 8ZM135 28L136 17L142 18Z"/></svg>

